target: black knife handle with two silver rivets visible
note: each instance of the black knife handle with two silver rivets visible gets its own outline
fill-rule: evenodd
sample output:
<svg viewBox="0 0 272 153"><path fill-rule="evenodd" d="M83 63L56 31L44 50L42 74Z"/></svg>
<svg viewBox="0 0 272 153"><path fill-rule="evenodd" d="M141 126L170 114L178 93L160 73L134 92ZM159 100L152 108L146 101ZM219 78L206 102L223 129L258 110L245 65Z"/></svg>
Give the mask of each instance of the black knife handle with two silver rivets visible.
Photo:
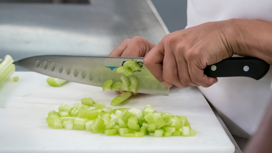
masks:
<svg viewBox="0 0 272 153"><path fill-rule="evenodd" d="M270 65L257 57L229 57L204 68L208 77L246 76L259 80L269 71Z"/></svg>

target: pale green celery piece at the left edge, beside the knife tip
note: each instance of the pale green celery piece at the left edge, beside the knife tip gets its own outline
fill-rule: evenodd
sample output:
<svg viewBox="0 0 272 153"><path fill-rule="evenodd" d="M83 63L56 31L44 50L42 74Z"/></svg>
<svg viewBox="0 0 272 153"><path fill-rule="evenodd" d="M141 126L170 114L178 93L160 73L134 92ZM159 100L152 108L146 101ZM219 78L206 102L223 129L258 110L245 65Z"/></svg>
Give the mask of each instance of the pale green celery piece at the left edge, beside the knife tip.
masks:
<svg viewBox="0 0 272 153"><path fill-rule="evenodd" d="M12 57L6 55L4 61L0 64L0 87L14 73L15 65L12 64L13 62Z"/></svg>

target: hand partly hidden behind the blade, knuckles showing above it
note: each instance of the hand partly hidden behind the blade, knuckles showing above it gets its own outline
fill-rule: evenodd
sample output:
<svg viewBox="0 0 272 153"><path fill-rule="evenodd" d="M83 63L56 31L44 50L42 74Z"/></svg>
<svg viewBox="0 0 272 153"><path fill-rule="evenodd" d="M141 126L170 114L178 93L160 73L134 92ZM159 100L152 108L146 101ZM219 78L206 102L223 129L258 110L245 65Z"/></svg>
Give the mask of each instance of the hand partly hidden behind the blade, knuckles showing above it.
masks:
<svg viewBox="0 0 272 153"><path fill-rule="evenodd" d="M124 40L108 56L144 57L155 46L143 37L136 36L133 39Z"/></svg>

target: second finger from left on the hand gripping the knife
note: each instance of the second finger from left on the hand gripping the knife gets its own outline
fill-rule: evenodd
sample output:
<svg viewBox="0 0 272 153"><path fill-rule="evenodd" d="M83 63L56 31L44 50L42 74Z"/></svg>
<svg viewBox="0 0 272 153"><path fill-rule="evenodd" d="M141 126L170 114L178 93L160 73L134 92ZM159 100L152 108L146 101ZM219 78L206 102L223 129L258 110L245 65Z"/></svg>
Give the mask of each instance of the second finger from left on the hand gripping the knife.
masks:
<svg viewBox="0 0 272 153"><path fill-rule="evenodd" d="M164 52L163 78L164 81L176 85L180 88L188 87L188 85L184 85L180 82L177 61L171 47L167 48L167 50Z"/></svg>

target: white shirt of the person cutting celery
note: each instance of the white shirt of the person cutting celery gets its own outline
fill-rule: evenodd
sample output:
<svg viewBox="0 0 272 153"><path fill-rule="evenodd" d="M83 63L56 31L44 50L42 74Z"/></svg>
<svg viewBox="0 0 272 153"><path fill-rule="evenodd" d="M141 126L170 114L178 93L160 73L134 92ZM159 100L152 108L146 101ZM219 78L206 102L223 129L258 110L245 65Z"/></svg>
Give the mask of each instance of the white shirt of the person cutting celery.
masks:
<svg viewBox="0 0 272 153"><path fill-rule="evenodd" d="M188 0L187 18L187 28L231 18L272 22L272 1ZM272 96L271 80L270 68L258 81L247 77L218 78L211 87L199 89L218 110L232 134L250 137L257 130Z"/></svg>

